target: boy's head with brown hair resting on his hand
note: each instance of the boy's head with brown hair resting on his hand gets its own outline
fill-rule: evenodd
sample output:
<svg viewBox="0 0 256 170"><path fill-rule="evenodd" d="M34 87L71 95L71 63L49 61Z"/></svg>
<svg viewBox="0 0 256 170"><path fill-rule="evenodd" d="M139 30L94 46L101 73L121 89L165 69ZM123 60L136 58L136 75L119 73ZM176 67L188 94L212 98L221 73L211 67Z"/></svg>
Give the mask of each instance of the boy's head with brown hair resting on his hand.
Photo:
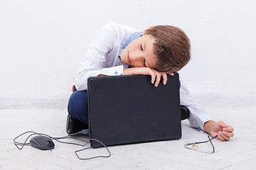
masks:
<svg viewBox="0 0 256 170"><path fill-rule="evenodd" d="M144 31L122 52L121 60L132 67L150 67L160 72L177 72L191 58L190 40L174 26L155 26Z"/></svg>

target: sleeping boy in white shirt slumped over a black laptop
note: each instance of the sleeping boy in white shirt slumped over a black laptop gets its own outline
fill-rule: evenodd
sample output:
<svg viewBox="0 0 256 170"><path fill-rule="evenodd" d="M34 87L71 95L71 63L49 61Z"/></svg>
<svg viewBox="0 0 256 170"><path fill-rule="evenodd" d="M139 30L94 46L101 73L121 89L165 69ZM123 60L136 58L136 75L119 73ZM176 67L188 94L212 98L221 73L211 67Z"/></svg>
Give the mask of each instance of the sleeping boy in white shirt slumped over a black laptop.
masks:
<svg viewBox="0 0 256 170"><path fill-rule="evenodd" d="M70 119L87 128L88 77L146 74L151 75L151 83L157 87L161 77L163 84L166 84L166 74L174 75L173 72L178 72L188 63L190 50L190 40L183 30L174 26L155 26L138 32L121 24L107 24L80 62L75 76L78 91L70 96L68 103ZM188 108L191 125L212 136L218 135L218 140L230 140L233 127L212 120L203 107L191 100L186 85L180 81L181 105ZM75 131L79 130L82 129Z"/></svg>

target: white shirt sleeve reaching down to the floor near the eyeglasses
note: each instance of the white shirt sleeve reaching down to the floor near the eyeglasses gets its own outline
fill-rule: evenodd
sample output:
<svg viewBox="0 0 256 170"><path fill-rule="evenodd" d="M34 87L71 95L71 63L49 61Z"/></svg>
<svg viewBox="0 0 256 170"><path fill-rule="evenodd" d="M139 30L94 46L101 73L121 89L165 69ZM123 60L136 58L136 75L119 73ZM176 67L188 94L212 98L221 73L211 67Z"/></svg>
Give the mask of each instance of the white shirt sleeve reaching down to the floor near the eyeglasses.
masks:
<svg viewBox="0 0 256 170"><path fill-rule="evenodd" d="M188 91L188 87L186 84L181 81L181 89L180 89L180 98L181 98L181 105L186 106L190 112L188 121L194 128L198 128L199 130L203 130L203 125L208 120L212 120L210 118L210 115L208 115L206 109L199 105L198 103L195 103L191 96L190 92Z"/></svg>

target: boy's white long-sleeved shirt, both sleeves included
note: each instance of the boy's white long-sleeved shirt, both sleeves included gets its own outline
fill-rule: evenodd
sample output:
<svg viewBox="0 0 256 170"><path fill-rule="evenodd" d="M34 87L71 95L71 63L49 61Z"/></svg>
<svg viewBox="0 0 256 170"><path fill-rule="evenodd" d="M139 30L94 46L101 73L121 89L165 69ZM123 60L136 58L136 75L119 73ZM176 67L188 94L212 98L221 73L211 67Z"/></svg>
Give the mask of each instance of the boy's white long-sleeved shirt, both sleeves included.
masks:
<svg viewBox="0 0 256 170"><path fill-rule="evenodd" d="M78 72L75 75L76 89L78 91L87 90L88 77L96 77L99 74L122 75L123 69L127 69L129 66L119 58L123 51L121 47L129 38L129 35L137 31L118 23L108 23L103 26L80 62ZM188 120L193 127L203 130L203 124L211 118L205 108L193 102L186 84L183 83L181 78L180 81L181 105L186 106L190 111Z"/></svg>

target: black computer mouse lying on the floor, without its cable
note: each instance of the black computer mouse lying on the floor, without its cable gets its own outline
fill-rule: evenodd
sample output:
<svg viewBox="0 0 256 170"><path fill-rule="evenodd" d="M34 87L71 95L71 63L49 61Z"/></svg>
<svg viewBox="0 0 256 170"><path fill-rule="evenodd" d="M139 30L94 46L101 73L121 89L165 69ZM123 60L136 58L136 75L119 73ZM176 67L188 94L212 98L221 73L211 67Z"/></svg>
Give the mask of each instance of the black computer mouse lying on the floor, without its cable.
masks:
<svg viewBox="0 0 256 170"><path fill-rule="evenodd" d="M46 137L44 135L36 135L31 138L30 144L32 147L36 147L41 150L51 150L54 148L53 140L50 137Z"/></svg>

